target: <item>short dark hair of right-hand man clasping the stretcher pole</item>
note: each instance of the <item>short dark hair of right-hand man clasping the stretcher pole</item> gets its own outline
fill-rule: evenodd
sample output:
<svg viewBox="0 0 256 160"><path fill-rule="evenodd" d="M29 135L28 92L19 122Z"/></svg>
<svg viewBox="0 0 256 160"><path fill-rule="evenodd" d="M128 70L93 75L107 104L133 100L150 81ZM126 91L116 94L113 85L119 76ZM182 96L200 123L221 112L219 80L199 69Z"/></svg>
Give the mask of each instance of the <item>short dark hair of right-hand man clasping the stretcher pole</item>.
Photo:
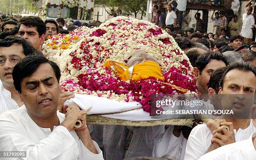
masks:
<svg viewBox="0 0 256 160"><path fill-rule="evenodd" d="M227 68L225 69L225 72L223 73L223 76L220 79L221 87L223 87L226 74L233 69L238 69L240 71L246 71L246 72L251 71L256 76L256 68L251 66L249 63L234 62L234 63L231 63L230 65L228 65ZM246 77L243 77L243 78L246 78Z"/></svg>

